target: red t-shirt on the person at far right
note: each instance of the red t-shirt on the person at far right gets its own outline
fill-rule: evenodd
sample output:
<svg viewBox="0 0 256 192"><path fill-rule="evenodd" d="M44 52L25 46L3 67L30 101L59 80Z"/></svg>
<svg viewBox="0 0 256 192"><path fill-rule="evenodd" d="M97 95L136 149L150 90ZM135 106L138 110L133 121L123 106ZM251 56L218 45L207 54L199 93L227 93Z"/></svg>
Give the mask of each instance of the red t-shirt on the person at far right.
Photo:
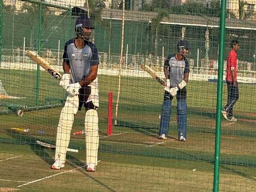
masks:
<svg viewBox="0 0 256 192"><path fill-rule="evenodd" d="M227 56L227 73L226 73L226 81L233 81L231 70L234 70L234 76L236 79L238 64L237 64L237 53L232 49Z"/></svg>

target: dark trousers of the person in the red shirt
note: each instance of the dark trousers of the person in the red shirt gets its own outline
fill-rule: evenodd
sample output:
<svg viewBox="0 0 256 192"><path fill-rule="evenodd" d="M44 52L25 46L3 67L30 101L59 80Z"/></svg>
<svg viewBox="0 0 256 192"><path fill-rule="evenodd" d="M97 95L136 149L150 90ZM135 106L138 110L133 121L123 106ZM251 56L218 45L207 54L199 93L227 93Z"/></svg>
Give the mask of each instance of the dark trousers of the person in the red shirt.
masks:
<svg viewBox="0 0 256 192"><path fill-rule="evenodd" d="M238 84L233 85L233 81L227 81L227 105L225 105L224 110L227 111L227 117L231 118L233 116L233 106L239 99L239 88Z"/></svg>

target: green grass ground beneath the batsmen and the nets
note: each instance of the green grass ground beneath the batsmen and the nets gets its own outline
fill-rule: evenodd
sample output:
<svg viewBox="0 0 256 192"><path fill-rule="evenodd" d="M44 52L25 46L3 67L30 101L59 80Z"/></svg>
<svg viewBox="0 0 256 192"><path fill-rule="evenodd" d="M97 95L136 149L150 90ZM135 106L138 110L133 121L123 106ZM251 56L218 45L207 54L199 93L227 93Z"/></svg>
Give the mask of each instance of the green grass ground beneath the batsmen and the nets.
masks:
<svg viewBox="0 0 256 192"><path fill-rule="evenodd" d="M58 81L41 71L40 105L58 104L65 99L65 91ZM35 71L2 70L1 81L12 96L25 99L1 99L0 110L6 105L35 106ZM99 160L97 172L74 170L21 188L21 191L210 191L213 181L216 93L217 84L189 81L187 85L188 140L177 141L176 99L172 102L169 138L165 143L157 139L163 102L163 87L154 79L122 77L117 126L113 136L107 136L108 92L113 91L115 114L118 78L99 76ZM221 191L256 190L256 115L255 85L239 84L240 98L234 108L239 121L223 120L221 137ZM224 84L223 102L226 102ZM52 100L47 100L52 98ZM1 187L17 188L13 180L32 181L56 172L49 169L54 150L40 148L36 140L55 143L61 107L0 115ZM84 129L84 109L77 113L72 133ZM10 128L29 128L20 133ZM38 131L44 131L39 134ZM66 170L81 166L85 160L84 135L72 136L70 148L79 153L68 153ZM193 169L196 169L193 171ZM62 171L61 171L62 172ZM57 172L58 173L58 172ZM183 174L186 173L186 174ZM139 181L139 182L138 182ZM78 184L79 183L79 184ZM56 189L55 186L63 186ZM90 186L90 187L88 187ZM2 189L0 188L0 191Z"/></svg>

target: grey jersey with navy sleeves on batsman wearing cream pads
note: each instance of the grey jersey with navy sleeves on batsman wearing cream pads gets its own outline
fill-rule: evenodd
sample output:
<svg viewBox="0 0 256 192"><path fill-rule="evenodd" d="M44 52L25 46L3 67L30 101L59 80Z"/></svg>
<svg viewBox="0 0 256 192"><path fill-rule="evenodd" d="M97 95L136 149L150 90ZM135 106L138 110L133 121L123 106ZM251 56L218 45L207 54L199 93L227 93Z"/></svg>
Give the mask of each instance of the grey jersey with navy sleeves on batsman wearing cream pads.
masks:
<svg viewBox="0 0 256 192"><path fill-rule="evenodd" d="M81 81L90 74L90 68L98 65L98 51L90 41L84 41L84 47L78 49L75 39L67 41L64 47L63 60L70 66L71 83Z"/></svg>

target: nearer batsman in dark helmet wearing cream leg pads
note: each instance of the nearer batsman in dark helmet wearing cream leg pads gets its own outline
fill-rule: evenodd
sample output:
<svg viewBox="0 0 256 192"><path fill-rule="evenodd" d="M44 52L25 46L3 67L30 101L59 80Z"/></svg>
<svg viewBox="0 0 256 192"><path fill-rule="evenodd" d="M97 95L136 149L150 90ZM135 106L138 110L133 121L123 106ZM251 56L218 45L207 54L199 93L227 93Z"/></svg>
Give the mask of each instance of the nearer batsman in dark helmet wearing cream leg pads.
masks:
<svg viewBox="0 0 256 192"><path fill-rule="evenodd" d="M99 90L97 81L98 51L90 35L93 24L89 17L81 16L76 20L76 38L67 41L63 54L64 75L60 85L67 90L68 96L57 127L55 163L52 169L61 169L66 161L67 147L74 116L81 108L86 109L84 129L86 132L87 171L95 171L99 147L98 113Z"/></svg>

